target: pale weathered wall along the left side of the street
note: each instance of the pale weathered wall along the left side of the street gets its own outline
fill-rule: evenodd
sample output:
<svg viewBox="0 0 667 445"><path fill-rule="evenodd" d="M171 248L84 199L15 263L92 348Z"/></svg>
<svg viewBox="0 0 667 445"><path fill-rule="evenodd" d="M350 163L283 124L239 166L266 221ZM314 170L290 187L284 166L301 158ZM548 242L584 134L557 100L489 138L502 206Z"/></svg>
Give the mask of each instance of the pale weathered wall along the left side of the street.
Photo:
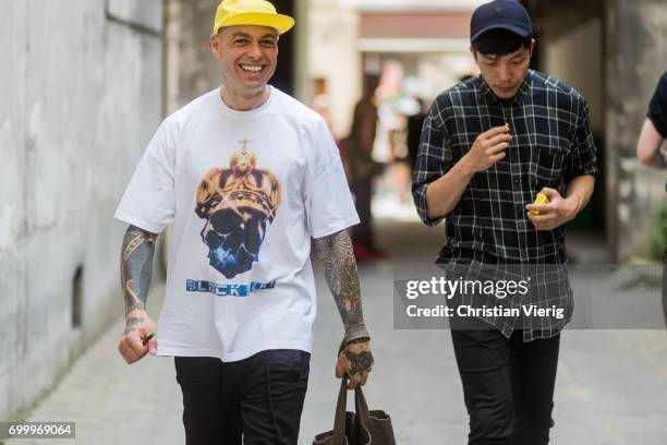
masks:
<svg viewBox="0 0 667 445"><path fill-rule="evenodd" d="M124 227L112 215L162 116L163 14L161 0L0 0L0 10L8 420L122 316Z"/></svg>

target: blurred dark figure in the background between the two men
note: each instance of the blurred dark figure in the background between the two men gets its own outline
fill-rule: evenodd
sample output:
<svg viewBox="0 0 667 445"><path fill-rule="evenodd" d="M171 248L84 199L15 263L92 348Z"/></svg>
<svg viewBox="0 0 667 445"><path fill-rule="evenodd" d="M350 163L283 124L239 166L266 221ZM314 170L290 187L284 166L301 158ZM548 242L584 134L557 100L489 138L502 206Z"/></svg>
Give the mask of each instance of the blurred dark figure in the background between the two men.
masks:
<svg viewBox="0 0 667 445"><path fill-rule="evenodd" d="M384 256L384 252L375 244L371 209L373 180L383 171L381 164L373 159L373 144L378 120L375 91L378 83L379 77L375 74L364 76L362 98L354 106L352 129L343 142L348 181L361 219L361 224L352 228L354 255L360 262Z"/></svg>

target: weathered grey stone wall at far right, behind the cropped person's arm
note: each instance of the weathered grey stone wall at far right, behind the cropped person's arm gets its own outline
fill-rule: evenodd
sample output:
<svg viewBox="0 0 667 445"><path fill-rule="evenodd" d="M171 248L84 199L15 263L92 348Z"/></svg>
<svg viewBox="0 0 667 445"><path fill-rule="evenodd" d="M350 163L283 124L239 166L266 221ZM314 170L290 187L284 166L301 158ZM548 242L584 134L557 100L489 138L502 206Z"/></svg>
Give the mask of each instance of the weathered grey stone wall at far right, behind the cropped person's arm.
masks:
<svg viewBox="0 0 667 445"><path fill-rule="evenodd" d="M636 139L657 80L667 70L664 0L607 0L607 208L618 260L645 256L655 213L665 203L667 172L636 161Z"/></svg>

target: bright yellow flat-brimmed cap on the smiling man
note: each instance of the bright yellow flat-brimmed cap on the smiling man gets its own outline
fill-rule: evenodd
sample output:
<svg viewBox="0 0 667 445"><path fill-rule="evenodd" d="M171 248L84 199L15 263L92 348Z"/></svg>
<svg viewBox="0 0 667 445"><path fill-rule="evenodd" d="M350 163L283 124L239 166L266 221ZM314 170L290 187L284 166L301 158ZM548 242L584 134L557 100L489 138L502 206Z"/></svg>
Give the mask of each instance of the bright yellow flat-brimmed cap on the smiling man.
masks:
<svg viewBox="0 0 667 445"><path fill-rule="evenodd" d="M283 34L294 26L294 19L278 14L266 0L222 0L216 11L214 35L221 27L234 25L268 26Z"/></svg>

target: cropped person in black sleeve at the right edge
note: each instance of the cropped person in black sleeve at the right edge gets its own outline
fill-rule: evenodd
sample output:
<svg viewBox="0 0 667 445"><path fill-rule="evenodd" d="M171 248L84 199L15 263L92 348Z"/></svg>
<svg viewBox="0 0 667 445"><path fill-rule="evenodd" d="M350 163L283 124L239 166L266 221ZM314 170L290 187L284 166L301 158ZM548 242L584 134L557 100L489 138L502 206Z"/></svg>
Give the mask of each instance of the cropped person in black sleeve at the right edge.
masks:
<svg viewBox="0 0 667 445"><path fill-rule="evenodd" d="M667 139L667 71L659 79L636 143L636 157L648 167L667 168L660 149ZM663 253L663 318L667 326L667 249Z"/></svg>

